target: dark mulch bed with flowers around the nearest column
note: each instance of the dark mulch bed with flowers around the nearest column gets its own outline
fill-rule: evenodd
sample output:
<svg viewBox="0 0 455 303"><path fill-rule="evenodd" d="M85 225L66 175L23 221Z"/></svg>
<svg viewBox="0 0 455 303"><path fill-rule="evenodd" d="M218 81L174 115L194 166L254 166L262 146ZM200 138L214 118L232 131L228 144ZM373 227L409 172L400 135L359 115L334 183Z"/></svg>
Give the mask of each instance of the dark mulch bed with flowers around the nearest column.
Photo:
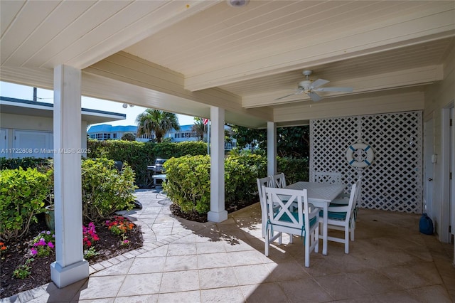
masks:
<svg viewBox="0 0 455 303"><path fill-rule="evenodd" d="M41 214L42 215L42 214ZM84 223L85 226L88 223ZM127 237L129 245L120 245L120 238L114 235L105 226L105 221L95 223L97 235L100 240L95 242L95 250L98 255L91 257L87 260L90 265L108 260L117 255L122 255L129 250L141 248L143 239L142 232L139 226L129 230ZM19 292L24 292L28 289L45 285L50 280L50 263L55 261L55 255L50 254L47 257L33 257L34 261L31 262L31 275L21 280L13 277L13 272L18 265L22 265L31 257L30 248L33 238L43 230L49 230L45 225L43 216L38 216L38 223L33 223L27 235L14 242L9 241L6 244L8 248L6 251L1 252L1 267L0 267L0 298L11 297Z"/></svg>

